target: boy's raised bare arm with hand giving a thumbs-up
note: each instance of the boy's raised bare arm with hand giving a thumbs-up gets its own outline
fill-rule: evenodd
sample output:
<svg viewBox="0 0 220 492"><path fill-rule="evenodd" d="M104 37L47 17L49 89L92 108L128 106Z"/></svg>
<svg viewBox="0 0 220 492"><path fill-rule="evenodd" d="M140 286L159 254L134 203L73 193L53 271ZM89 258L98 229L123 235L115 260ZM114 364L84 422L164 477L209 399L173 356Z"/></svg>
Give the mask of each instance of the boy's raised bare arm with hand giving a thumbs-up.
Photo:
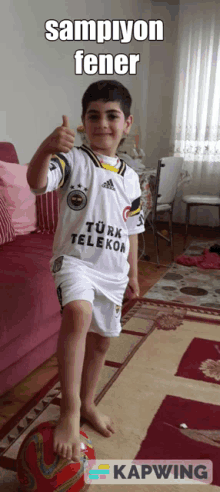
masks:
<svg viewBox="0 0 220 492"><path fill-rule="evenodd" d="M75 140L75 133L70 129L67 116L63 116L62 126L56 128L40 145L32 157L27 170L27 181L30 188L40 190L47 185L48 167L53 154L69 152Z"/></svg>

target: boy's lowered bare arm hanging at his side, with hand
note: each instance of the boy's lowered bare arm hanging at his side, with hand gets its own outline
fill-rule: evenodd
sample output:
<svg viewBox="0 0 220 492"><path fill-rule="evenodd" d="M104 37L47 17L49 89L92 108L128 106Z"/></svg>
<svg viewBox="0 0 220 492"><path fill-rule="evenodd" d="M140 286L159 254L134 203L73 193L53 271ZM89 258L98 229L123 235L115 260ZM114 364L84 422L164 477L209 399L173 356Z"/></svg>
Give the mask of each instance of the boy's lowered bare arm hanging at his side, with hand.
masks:
<svg viewBox="0 0 220 492"><path fill-rule="evenodd" d="M130 271L128 273L128 285L133 292L132 297L135 298L140 294L138 285L138 234L130 235L129 242L130 250L128 255L128 263L130 264Z"/></svg>

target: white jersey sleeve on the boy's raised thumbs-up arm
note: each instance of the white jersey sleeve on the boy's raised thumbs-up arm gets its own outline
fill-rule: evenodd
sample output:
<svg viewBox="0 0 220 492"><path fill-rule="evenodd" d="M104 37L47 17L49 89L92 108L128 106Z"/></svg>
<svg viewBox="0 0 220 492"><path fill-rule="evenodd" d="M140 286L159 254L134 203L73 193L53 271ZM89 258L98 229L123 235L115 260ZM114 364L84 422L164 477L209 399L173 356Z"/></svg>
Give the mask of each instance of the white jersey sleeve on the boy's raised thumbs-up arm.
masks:
<svg viewBox="0 0 220 492"><path fill-rule="evenodd" d="M62 188L71 175L72 156L68 154L58 153L52 156L47 173L47 185L40 190L31 191L36 195L42 195L48 191L54 191Z"/></svg>

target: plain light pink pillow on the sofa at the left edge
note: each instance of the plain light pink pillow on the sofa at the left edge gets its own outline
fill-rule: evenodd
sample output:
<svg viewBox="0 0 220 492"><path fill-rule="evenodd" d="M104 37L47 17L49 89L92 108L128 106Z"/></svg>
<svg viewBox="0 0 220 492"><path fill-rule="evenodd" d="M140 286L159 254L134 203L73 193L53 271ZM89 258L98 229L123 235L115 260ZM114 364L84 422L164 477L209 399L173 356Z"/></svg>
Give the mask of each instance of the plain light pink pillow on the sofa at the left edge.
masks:
<svg viewBox="0 0 220 492"><path fill-rule="evenodd" d="M0 161L0 191L3 193L15 234L28 234L37 227L36 198L27 182L27 165Z"/></svg>

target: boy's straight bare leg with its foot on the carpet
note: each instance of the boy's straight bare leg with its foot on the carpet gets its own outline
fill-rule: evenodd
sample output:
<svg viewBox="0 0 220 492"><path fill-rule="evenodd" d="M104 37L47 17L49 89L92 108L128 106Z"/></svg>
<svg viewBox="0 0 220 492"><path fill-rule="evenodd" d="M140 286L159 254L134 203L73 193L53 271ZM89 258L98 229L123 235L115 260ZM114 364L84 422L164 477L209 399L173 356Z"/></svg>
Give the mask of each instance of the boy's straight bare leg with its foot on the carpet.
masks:
<svg viewBox="0 0 220 492"><path fill-rule="evenodd" d="M95 391L105 356L110 345L109 337L97 333L88 333L81 382L81 416L91 422L93 427L103 436L110 437L114 433L110 417L102 414L95 406Z"/></svg>

